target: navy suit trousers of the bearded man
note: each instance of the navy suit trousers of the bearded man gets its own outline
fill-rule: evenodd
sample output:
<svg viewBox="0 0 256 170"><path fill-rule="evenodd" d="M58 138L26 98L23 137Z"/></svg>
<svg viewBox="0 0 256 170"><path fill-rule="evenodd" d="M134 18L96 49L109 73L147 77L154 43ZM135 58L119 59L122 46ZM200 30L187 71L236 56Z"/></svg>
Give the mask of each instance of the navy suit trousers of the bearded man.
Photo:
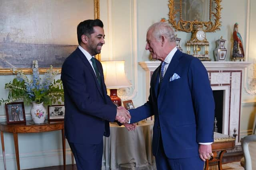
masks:
<svg viewBox="0 0 256 170"><path fill-rule="evenodd" d="M103 140L99 144L78 144L68 142L77 170L101 170Z"/></svg>

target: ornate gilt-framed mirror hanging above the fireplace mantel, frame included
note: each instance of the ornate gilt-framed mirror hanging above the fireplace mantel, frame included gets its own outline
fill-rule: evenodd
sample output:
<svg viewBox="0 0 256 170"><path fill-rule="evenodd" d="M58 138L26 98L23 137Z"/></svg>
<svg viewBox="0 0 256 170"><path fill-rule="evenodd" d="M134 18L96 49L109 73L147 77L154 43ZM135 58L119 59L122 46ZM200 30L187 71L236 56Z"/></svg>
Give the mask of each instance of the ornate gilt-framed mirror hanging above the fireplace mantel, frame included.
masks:
<svg viewBox="0 0 256 170"><path fill-rule="evenodd" d="M203 25L205 32L220 30L222 0L169 0L169 21L178 31L191 32Z"/></svg>

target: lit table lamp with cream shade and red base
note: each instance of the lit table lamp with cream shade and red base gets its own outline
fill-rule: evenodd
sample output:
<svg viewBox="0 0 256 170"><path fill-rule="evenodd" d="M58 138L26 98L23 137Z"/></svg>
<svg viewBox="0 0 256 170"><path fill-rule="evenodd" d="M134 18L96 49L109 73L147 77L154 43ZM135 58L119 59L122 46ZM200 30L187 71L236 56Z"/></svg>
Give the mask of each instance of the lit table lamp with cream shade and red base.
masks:
<svg viewBox="0 0 256 170"><path fill-rule="evenodd" d="M132 86L124 73L124 61L101 61L104 80L110 89L110 99L117 106L122 106L121 99L117 96L117 89Z"/></svg>

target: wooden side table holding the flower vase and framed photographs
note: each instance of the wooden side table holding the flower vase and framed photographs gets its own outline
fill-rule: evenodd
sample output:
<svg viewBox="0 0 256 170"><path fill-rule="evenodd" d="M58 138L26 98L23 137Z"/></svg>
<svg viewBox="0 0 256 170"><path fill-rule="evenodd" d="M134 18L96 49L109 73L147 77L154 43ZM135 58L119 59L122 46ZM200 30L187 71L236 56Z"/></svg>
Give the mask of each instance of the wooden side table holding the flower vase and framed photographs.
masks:
<svg viewBox="0 0 256 170"><path fill-rule="evenodd" d="M48 122L45 124L30 124L29 122L21 123L21 124L6 124L6 122L0 122L1 143L2 143L3 158L4 158L4 170L6 170L6 159L5 159L5 150L4 150L4 132L9 132L13 134L17 169L20 170L18 133L40 133L40 132L50 132L50 131L58 131L58 130L61 130L62 132L63 164L64 164L64 170L65 170L66 141L64 137L64 121Z"/></svg>

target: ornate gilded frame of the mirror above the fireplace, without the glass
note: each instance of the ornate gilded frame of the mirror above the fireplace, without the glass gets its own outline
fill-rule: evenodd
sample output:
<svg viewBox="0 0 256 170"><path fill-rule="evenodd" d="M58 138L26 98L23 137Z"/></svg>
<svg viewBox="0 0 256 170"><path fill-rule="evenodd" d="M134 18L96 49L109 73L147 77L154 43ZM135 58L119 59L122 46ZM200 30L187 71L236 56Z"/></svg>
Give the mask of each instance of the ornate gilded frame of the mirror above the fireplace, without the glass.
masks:
<svg viewBox="0 0 256 170"><path fill-rule="evenodd" d="M169 0L169 22L172 24L174 29L177 31L185 31L185 32L192 32L194 30L194 25L203 25L205 28L203 29L205 32L215 32L216 30L220 30L221 26L221 21L220 21L220 11L222 10L222 7L220 5L220 2L222 0L213 0L214 3L216 4L216 7L214 8L215 12L212 12L212 10L209 10L209 21L184 21L181 18L180 15L180 20L176 21L176 14L177 12L180 12L180 9L182 8L180 0L180 9L176 10L175 9L175 4L174 0ZM211 3L210 3L210 9ZM214 16L214 23L211 21L211 16Z"/></svg>

